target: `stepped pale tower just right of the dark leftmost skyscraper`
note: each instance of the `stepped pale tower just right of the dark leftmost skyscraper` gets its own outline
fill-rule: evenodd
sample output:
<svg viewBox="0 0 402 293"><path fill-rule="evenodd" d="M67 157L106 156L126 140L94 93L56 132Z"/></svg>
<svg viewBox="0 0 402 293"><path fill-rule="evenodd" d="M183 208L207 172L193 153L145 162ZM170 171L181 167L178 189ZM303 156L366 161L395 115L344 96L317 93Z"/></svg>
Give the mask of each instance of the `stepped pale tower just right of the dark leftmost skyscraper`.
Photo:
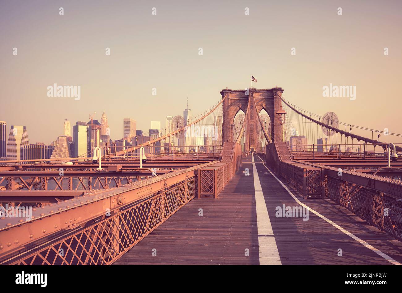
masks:
<svg viewBox="0 0 402 293"><path fill-rule="evenodd" d="M11 125L7 143L7 160L22 160L22 148L28 144L27 127Z"/></svg>

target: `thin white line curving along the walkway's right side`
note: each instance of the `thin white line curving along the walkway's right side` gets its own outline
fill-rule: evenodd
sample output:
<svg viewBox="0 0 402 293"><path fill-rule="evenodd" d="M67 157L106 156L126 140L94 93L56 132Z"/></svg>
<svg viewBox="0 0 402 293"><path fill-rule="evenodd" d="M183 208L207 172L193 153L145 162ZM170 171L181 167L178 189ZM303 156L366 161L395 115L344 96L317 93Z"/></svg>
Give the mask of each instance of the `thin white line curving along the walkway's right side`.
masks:
<svg viewBox="0 0 402 293"><path fill-rule="evenodd" d="M260 158L258 155L256 155L258 158ZM263 161L263 159L260 158L261 161ZM253 158L253 162L254 162L254 158ZM263 161L263 164L265 166L265 163ZM254 168L254 164L253 164L253 168ZM354 234L352 234L351 232L347 231L346 229L340 227L338 224L334 223L333 221L331 221L330 219L324 217L323 215L321 215L320 213L314 211L314 209L308 207L307 205L305 205L304 203L301 203L301 201L299 201L295 195L293 195L293 193L291 193L291 191L289 189L287 189L287 187L282 183L281 180L279 180L277 178L277 176L275 176L271 170L269 170L269 168L267 166L265 166L265 168L267 168L267 170L271 173L271 175L279 182L281 183L281 185L283 186L283 188L286 189L286 191L293 197L293 199L301 206L306 207L307 209L309 209L309 211L311 211L312 213L318 215L318 217L320 217L321 219L324 219L325 221L327 221L328 223L330 223L332 226L336 227L336 229L339 229L340 231L342 231L343 233L345 233L347 236L351 237L352 239L356 240L357 242L359 242L360 244L362 244L363 246L365 246L366 248L369 248L370 250L372 250L373 252L375 252L376 254L378 254L379 256L381 256L382 258L388 260L390 263L395 264L395 265L401 265L400 262L397 262L396 260L394 260L392 257L390 257L388 254L385 254L384 252L382 252L381 250L375 248L374 246L368 244L367 242L365 242L364 240L360 239L359 237L355 236ZM254 172L254 169L253 169Z"/></svg>

